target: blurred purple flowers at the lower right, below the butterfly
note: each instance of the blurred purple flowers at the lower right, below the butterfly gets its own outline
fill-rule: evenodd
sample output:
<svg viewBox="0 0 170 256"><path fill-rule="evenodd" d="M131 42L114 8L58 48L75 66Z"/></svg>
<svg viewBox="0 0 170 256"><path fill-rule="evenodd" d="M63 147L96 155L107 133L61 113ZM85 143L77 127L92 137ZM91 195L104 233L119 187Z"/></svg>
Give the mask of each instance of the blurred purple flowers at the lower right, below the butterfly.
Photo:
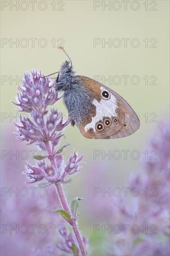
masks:
<svg viewBox="0 0 170 256"><path fill-rule="evenodd" d="M120 234L113 237L112 253L116 256L170 255L167 240L170 236L169 141L168 123L158 127L157 133L150 140L157 158L143 159L142 169L137 174L132 174L127 183L126 187L130 190L137 188L140 195L133 197L131 202L123 196L113 198L112 220L121 227ZM127 230L126 224L130 227ZM134 232L131 230L132 226Z"/></svg>

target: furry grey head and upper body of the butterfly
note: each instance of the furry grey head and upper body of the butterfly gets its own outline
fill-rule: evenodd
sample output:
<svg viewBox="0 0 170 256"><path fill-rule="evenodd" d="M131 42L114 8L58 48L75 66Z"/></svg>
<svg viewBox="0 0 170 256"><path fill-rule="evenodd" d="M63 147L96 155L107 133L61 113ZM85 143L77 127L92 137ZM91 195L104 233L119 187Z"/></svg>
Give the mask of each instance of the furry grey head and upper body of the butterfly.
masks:
<svg viewBox="0 0 170 256"><path fill-rule="evenodd" d="M70 88L74 80L75 71L69 61L63 62L56 80L55 88L57 91L66 91Z"/></svg>

